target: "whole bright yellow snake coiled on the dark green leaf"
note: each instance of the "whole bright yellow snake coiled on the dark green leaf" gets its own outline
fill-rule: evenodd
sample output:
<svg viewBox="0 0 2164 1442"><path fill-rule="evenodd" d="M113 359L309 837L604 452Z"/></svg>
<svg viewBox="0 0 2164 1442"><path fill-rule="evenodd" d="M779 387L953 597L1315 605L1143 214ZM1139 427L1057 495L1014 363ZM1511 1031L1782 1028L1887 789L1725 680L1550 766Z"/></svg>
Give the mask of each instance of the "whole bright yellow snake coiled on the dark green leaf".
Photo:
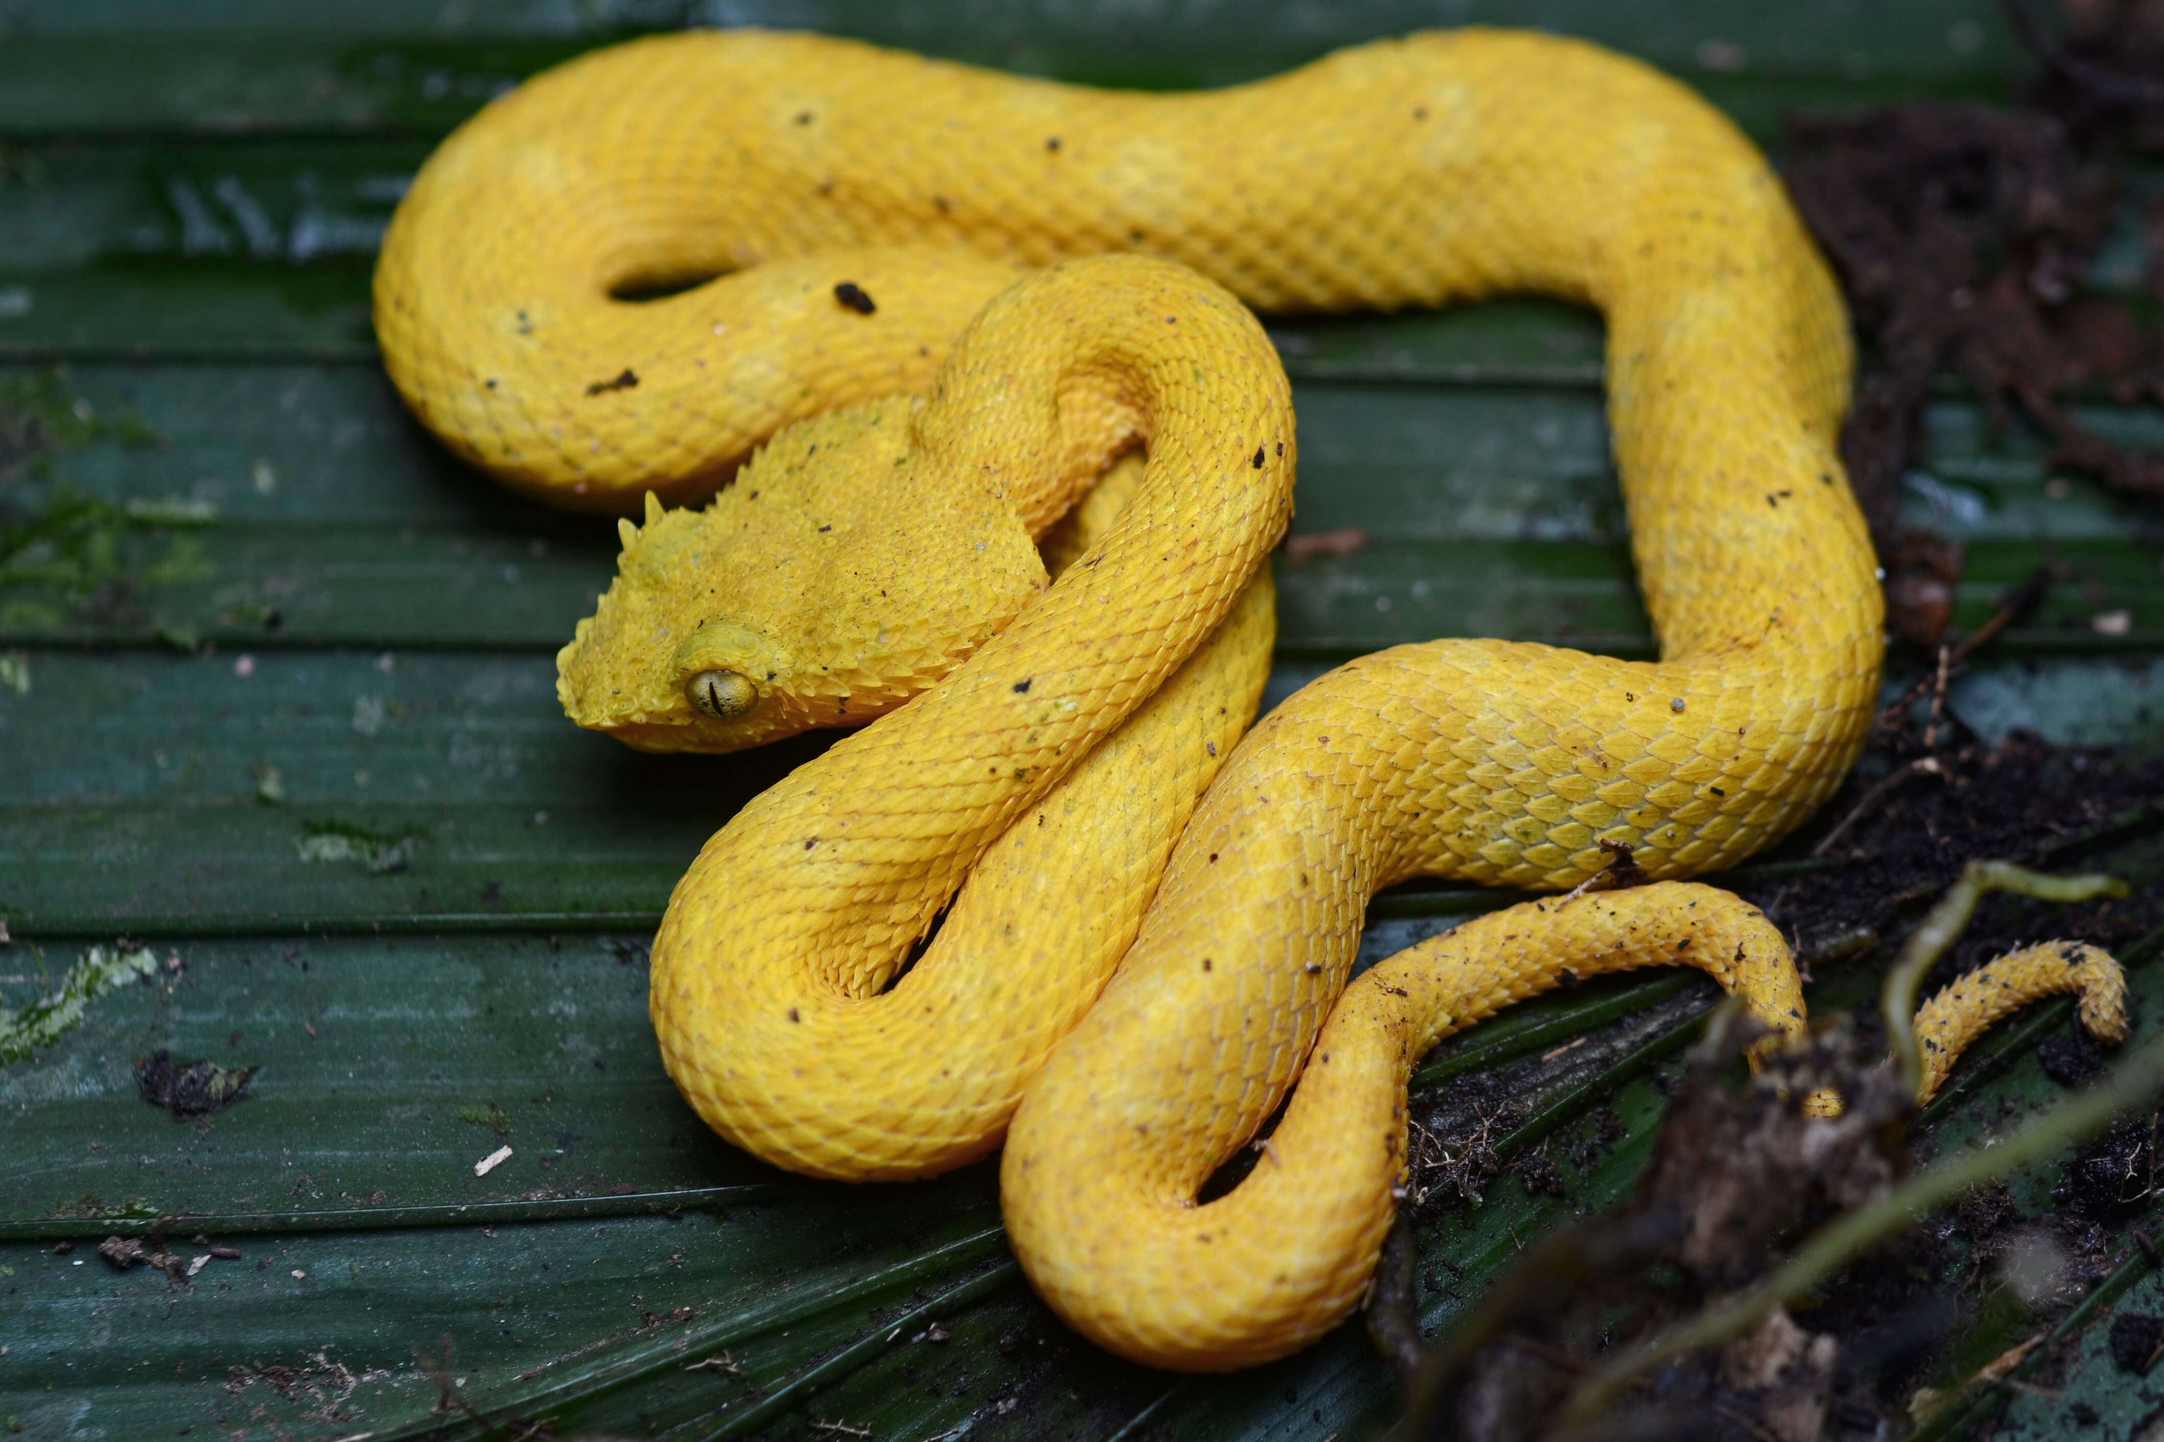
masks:
<svg viewBox="0 0 2164 1442"><path fill-rule="evenodd" d="M1017 281L1104 251L1162 259ZM1500 290L1608 320L1662 659L1398 646L1233 748L1296 460L1240 303ZM1653 878L1718 869L1861 746L1881 601L1835 458L1839 301L1753 147L1632 61L1465 30L1114 95L801 35L641 41L431 158L377 326L461 454L647 508L560 657L573 720L727 750L879 716L677 886L651 1010L686 1098L822 1176L1006 1131L1017 1256L1106 1347L1223 1368L1335 1325L1391 1215L1411 1064L1497 1005L1690 962L1803 1020L1779 934L1675 880L1515 906L1346 988L1378 886L1565 889L1623 845ZM1132 499L1054 582L1032 540L1136 443ZM731 476L701 512L651 499ZM1978 1016L1932 1038L1952 1055ZM1311 1055L1264 1163L1195 1206Z"/></svg>

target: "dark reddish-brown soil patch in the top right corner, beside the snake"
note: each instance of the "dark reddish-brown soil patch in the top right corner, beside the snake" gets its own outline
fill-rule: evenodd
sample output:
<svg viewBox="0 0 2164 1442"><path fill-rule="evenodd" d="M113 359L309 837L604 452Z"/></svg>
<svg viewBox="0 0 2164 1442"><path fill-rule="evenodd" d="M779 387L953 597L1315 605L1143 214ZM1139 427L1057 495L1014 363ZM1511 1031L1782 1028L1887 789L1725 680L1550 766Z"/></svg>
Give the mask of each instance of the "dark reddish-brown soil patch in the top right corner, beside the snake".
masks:
<svg viewBox="0 0 2164 1442"><path fill-rule="evenodd" d="M2164 335L2145 318L2164 298L2164 205L2145 210L2147 294L2082 285L2127 199L2127 160L2164 153L2164 11L2069 0L2054 39L2026 2L2008 11L2043 74L2023 106L1790 119L1790 192L1870 350L1842 458L1887 571L1889 623L1919 646L1945 633L1963 569L1961 547L1898 519L1941 370L1961 372L1997 426L2019 415L2051 437L2054 465L2164 497L2164 456L2112 445L2067 406L2082 391L2164 400Z"/></svg>

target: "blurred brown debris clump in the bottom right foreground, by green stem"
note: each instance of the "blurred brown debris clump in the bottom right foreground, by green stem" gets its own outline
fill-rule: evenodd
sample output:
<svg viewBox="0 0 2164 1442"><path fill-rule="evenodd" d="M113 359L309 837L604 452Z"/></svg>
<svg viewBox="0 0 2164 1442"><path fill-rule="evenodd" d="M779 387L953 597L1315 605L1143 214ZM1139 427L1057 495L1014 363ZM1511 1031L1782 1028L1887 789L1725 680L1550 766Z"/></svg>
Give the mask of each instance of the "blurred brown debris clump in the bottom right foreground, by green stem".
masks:
<svg viewBox="0 0 2164 1442"><path fill-rule="evenodd" d="M1744 1090L1723 1079L1757 1029L1701 1049L1636 1193L1528 1250L1519 1269L1420 1366L1407 1433L1461 1442L1554 1436L1606 1360L1766 1276L1785 1241L1885 1196L1911 1107L1844 1031L1768 1055ZM1835 1087L1848 1107L1811 1118ZM1389 1265L1389 1260L1385 1260ZM1846 1340L1774 1310L1742 1336L1625 1388L1573 1438L1818 1438Z"/></svg>

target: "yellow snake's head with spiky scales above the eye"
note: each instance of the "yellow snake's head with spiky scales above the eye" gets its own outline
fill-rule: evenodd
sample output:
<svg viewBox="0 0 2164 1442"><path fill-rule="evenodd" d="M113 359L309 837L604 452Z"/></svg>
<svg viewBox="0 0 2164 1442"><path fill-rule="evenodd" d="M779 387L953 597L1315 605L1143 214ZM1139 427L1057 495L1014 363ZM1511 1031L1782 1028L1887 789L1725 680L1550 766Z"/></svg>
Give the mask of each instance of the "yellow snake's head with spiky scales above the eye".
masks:
<svg viewBox="0 0 2164 1442"><path fill-rule="evenodd" d="M915 402L775 435L703 510L647 497L617 579L556 655L580 726L641 750L742 750L861 726L1045 588L1021 521L913 450Z"/></svg>

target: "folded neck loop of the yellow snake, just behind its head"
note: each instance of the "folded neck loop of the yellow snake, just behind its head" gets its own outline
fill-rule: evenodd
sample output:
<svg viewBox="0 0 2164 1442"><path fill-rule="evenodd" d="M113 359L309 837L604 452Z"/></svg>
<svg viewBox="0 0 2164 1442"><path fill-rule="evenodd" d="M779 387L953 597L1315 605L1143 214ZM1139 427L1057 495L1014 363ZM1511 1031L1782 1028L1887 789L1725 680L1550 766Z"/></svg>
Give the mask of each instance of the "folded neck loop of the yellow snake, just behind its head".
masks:
<svg viewBox="0 0 2164 1442"><path fill-rule="evenodd" d="M1262 696L1251 577L1296 460L1255 318L1143 257L1002 292L909 426L907 465L1032 528L1136 439L1147 465L1006 631L757 796L671 897L649 1005L684 1096L738 1146L853 1180L991 1150L1119 962Z"/></svg>

